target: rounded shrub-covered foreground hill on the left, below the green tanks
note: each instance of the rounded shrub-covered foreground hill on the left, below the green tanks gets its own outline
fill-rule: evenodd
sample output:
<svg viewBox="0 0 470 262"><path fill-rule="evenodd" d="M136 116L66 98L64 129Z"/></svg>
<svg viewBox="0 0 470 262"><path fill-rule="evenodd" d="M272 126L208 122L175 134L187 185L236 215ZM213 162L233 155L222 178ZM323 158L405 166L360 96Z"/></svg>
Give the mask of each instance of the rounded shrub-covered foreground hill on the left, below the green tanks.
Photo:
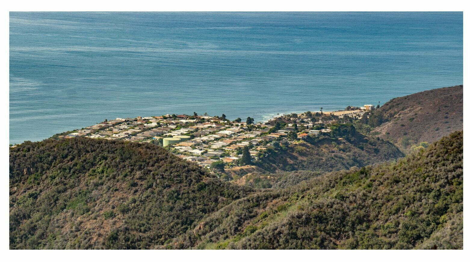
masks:
<svg viewBox="0 0 470 262"><path fill-rule="evenodd" d="M10 248L154 248L249 192L151 144L25 142L10 149Z"/></svg>

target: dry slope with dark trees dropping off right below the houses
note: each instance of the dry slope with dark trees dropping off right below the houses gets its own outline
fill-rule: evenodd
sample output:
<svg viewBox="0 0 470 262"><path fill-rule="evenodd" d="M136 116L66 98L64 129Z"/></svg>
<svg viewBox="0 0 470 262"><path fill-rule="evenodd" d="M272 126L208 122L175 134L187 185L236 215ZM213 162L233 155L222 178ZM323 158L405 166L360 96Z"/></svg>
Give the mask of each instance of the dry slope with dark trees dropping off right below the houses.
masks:
<svg viewBox="0 0 470 262"><path fill-rule="evenodd" d="M258 161L267 172L330 172L385 162L405 155L391 142L356 132L350 139L330 136L302 140Z"/></svg>

